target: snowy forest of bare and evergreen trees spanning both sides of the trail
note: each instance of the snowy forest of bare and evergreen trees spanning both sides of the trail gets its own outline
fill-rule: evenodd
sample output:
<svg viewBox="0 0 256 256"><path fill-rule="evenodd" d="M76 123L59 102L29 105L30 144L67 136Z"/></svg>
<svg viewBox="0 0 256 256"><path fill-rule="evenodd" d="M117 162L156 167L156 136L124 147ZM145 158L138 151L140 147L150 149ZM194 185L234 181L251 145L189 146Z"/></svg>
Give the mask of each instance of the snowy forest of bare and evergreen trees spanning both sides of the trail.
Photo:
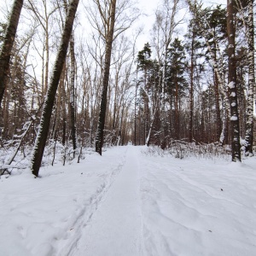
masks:
<svg viewBox="0 0 256 256"><path fill-rule="evenodd" d="M10 2L0 4L0 143L13 148L3 165L22 152L37 177L44 148L53 163L57 148L79 161L84 148L130 141L253 155L253 0L161 0L141 49L132 0Z"/></svg>

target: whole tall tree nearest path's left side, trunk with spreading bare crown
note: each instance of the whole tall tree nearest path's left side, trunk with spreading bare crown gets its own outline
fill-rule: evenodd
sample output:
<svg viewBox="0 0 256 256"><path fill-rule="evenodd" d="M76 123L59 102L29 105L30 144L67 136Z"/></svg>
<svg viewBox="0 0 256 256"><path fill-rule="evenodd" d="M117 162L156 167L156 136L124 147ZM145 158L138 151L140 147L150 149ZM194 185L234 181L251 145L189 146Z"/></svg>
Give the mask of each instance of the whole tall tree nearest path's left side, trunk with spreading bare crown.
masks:
<svg viewBox="0 0 256 256"><path fill-rule="evenodd" d="M118 6L116 6L116 0L94 0L94 3L96 3L97 14L100 15L100 19L98 19L97 14L90 9L90 24L96 27L96 30L100 33L105 44L101 107L96 131L96 152L102 155L113 40L117 38L119 34L125 32L133 21L137 19L137 10L131 9L131 1L128 0L119 1ZM127 14L127 10L132 11L132 13Z"/></svg>

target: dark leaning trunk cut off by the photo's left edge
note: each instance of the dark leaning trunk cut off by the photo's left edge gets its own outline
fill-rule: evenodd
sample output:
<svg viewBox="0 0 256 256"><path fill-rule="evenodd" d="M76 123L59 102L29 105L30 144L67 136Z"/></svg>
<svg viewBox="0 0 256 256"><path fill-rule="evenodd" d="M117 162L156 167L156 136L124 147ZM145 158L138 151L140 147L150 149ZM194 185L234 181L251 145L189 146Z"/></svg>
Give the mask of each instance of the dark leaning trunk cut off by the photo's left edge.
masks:
<svg viewBox="0 0 256 256"><path fill-rule="evenodd" d="M15 35L20 20L22 5L23 0L15 0L11 15L9 17L9 24L6 29L2 50L0 53L0 108L3 100L4 90L6 88L9 73L9 60L11 50L15 42Z"/></svg>

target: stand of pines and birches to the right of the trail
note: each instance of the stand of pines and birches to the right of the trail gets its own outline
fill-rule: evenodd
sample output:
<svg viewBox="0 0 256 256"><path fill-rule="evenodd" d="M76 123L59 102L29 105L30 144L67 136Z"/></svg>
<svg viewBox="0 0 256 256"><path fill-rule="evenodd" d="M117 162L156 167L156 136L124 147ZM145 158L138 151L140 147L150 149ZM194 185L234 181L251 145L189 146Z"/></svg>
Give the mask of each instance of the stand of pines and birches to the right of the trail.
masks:
<svg viewBox="0 0 256 256"><path fill-rule="evenodd" d="M134 141L231 144L232 160L241 160L241 145L253 154L253 1L228 1L227 8L188 1L182 39L175 33L179 3L158 10L152 45L137 55Z"/></svg>

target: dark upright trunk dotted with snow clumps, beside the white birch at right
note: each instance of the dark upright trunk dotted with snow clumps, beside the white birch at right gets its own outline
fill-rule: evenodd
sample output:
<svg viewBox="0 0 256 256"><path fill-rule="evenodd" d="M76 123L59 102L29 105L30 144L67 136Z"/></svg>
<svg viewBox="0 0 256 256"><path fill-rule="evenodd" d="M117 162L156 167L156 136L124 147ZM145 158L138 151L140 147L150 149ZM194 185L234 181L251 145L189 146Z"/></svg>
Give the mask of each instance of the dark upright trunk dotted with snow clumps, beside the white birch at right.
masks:
<svg viewBox="0 0 256 256"><path fill-rule="evenodd" d="M236 42L235 42L235 20L234 20L234 0L227 0L227 30L228 30L228 56L229 56L229 98L230 98L230 125L232 139L232 161L241 161L240 151L240 127L237 108L236 90Z"/></svg>

